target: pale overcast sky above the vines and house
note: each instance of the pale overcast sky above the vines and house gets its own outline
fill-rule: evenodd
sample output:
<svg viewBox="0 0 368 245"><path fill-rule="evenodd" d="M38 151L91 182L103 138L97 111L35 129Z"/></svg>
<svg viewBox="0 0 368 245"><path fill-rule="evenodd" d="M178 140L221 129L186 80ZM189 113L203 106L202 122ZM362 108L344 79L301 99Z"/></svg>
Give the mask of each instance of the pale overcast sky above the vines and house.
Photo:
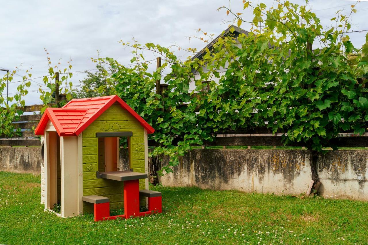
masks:
<svg viewBox="0 0 368 245"><path fill-rule="evenodd" d="M257 3L254 0L253 3ZM272 6L273 0L260 0ZM303 4L305 1L292 0ZM339 9L350 12L350 5L355 1L346 0L311 0L312 8L321 19L325 28L331 25L331 19ZM118 43L129 41L134 37L139 43L152 42L162 46L177 44L181 47L205 46L203 42L188 36L198 35L196 30L220 34L229 25L223 20L230 20L226 11L217 8L229 5L228 0L134 0L134 1L0 1L0 67L13 70L22 63L20 75L32 67L34 78L47 74L47 59L44 48L50 53L53 64L61 58L61 67L65 67L72 58L72 70L82 71L95 68L91 57L112 57L121 64L128 64L131 50ZM250 10L243 11L241 0L232 0L231 8L244 13L244 19L251 20ZM351 23L354 30L368 29L368 2L357 5ZM243 24L243 29L249 25ZM365 34L351 33L350 40L355 47L360 47ZM178 56L187 57L185 52L176 52ZM148 53L147 53L148 54ZM148 54L149 58L154 58ZM0 71L0 76L5 72ZM75 74L71 79L74 85L85 77L85 73ZM15 76L14 81L21 80ZM38 89L42 78L34 79L31 88ZM16 83L9 85L9 93L15 92ZM38 92L26 96L26 104L38 104Z"/></svg>

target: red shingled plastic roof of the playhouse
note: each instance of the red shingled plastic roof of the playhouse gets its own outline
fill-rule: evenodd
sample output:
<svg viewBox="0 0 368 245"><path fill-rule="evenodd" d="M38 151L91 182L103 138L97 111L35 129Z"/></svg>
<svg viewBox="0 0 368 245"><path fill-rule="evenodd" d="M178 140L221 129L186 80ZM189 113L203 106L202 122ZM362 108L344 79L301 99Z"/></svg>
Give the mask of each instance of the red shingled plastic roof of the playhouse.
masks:
<svg viewBox="0 0 368 245"><path fill-rule="evenodd" d="M35 130L35 135L43 135L47 122L50 120L59 136L79 135L93 121L95 121L112 104L118 102L136 118L142 127L147 129L148 134L155 132L142 117L117 95L72 99L62 108L47 108Z"/></svg>

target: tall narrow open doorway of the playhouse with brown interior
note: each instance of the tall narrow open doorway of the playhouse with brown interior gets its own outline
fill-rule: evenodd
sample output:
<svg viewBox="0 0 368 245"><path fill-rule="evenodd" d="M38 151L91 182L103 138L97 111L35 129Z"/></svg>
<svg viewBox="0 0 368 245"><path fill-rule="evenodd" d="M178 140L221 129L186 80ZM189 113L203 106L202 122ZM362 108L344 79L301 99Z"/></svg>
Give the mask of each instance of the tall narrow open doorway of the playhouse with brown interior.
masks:
<svg viewBox="0 0 368 245"><path fill-rule="evenodd" d="M48 132L47 142L47 169L48 169L48 195L49 209L56 213L61 210L61 161L60 161L60 136L57 132Z"/></svg>

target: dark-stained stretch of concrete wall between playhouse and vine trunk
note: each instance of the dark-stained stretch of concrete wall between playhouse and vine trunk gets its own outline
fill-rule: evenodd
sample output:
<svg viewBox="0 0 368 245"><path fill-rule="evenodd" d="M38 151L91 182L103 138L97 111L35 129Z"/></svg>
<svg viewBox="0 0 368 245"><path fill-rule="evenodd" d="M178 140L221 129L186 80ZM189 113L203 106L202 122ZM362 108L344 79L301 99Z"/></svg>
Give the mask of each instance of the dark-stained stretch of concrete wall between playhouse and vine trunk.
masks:
<svg viewBox="0 0 368 245"><path fill-rule="evenodd" d="M163 184L194 185L212 189L292 192L305 188L296 183L310 178L305 150L195 149L181 159ZM162 164L166 164L164 159ZM275 190L277 186L277 190Z"/></svg>

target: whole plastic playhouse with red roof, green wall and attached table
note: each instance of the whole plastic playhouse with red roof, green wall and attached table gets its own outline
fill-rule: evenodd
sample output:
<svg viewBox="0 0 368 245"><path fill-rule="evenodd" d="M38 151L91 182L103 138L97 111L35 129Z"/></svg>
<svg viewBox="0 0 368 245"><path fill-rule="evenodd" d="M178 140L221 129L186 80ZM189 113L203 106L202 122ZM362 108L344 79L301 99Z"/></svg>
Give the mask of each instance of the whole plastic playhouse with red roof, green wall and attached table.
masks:
<svg viewBox="0 0 368 245"><path fill-rule="evenodd" d="M94 213L95 221L160 213L161 193L148 190L147 180L147 134L154 131L116 95L47 108L35 130L43 135L45 210L60 205L61 217ZM130 171L119 169L123 137ZM124 214L110 216L110 209L121 208Z"/></svg>

